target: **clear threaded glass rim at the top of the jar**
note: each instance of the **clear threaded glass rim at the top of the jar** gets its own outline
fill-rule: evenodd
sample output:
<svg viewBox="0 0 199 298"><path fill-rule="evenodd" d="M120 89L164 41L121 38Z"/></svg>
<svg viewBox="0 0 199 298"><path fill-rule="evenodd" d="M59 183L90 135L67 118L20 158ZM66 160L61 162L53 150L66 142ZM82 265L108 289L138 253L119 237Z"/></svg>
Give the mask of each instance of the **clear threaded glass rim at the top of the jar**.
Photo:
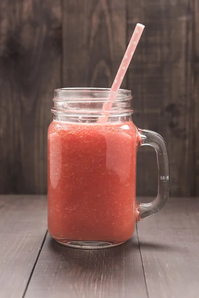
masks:
<svg viewBox="0 0 199 298"><path fill-rule="evenodd" d="M131 113L131 91L119 89L110 91L110 88L59 88L54 90L53 113L101 113L105 103L111 103L110 113Z"/></svg>

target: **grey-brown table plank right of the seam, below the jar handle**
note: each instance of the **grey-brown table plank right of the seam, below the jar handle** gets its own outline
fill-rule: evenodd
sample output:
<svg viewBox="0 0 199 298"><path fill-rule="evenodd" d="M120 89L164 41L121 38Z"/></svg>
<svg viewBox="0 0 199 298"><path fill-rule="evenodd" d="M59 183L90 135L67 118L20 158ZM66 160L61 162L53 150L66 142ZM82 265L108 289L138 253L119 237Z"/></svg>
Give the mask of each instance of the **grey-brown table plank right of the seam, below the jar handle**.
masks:
<svg viewBox="0 0 199 298"><path fill-rule="evenodd" d="M199 200L172 198L137 227L149 298L198 298Z"/></svg>

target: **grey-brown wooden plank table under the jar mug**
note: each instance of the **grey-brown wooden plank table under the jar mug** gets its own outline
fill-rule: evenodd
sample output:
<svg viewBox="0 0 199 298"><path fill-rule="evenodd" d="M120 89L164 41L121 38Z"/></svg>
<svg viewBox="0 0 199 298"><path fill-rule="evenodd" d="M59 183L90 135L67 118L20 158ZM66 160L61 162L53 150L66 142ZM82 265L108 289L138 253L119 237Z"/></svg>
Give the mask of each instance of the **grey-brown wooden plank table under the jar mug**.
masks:
<svg viewBox="0 0 199 298"><path fill-rule="evenodd" d="M0 196L0 298L198 298L199 199L172 198L131 240L79 250L47 234L45 196Z"/></svg>

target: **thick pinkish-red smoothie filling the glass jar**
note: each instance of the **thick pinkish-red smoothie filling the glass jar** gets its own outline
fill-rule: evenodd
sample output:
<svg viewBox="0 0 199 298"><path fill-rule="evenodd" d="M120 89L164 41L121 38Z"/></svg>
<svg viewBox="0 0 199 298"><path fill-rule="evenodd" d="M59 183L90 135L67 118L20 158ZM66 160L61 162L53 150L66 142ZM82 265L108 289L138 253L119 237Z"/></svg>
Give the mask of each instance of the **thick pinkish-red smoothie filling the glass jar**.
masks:
<svg viewBox="0 0 199 298"><path fill-rule="evenodd" d="M132 236L137 147L132 122L51 123L48 230L54 238L119 243Z"/></svg>

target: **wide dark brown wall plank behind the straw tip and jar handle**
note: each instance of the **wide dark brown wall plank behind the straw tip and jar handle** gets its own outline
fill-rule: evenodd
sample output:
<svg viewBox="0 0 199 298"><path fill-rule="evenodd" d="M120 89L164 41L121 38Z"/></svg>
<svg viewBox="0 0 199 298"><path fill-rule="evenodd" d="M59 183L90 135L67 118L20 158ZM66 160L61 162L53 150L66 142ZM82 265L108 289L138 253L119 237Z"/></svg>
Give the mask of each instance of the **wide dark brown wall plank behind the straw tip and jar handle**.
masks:
<svg viewBox="0 0 199 298"><path fill-rule="evenodd" d="M146 26L128 71L128 88L134 95L134 122L166 140L171 195L196 195L194 1L127 0L127 5L128 40L136 22ZM156 191L155 154L152 150L142 154L138 169L141 167L145 175L138 180L138 194L149 195Z"/></svg>

